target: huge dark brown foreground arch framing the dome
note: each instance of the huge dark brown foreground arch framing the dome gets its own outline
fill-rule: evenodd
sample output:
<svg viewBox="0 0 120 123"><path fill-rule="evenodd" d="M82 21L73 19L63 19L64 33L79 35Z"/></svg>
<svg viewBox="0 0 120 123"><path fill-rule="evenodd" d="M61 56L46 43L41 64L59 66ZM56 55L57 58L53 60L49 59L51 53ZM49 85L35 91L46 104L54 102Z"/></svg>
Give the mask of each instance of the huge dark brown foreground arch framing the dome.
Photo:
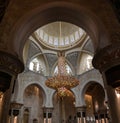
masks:
<svg viewBox="0 0 120 123"><path fill-rule="evenodd" d="M98 45L104 47L103 45L107 44L104 26L92 12L70 2L49 2L31 10L19 19L11 31L10 40L13 41L11 47L22 59L23 47L30 34L37 28L58 20L82 27L92 38L95 51Z"/></svg>

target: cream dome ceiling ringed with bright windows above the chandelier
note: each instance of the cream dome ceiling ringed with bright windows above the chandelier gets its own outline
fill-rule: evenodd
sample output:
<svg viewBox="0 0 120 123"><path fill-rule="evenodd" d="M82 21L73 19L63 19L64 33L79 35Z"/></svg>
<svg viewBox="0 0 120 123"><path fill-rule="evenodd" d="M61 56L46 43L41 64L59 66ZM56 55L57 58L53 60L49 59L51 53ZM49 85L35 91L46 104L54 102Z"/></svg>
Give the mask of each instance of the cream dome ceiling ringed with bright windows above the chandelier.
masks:
<svg viewBox="0 0 120 123"><path fill-rule="evenodd" d="M54 50L72 48L86 37L85 31L80 27L61 21L47 24L34 34L40 43Z"/></svg>

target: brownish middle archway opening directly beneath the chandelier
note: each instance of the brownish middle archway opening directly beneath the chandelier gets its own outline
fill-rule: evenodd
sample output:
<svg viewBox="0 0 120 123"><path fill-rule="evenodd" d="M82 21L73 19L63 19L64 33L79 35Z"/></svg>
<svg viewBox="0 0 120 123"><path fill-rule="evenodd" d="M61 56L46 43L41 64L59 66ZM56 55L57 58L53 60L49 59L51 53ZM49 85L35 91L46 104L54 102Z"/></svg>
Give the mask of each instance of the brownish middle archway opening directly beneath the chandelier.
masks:
<svg viewBox="0 0 120 123"><path fill-rule="evenodd" d="M75 108L75 95L69 90L69 94L64 97L59 97L57 92L53 95L53 116L52 122L58 123L67 122L69 117L71 120L76 116L76 108Z"/></svg>

